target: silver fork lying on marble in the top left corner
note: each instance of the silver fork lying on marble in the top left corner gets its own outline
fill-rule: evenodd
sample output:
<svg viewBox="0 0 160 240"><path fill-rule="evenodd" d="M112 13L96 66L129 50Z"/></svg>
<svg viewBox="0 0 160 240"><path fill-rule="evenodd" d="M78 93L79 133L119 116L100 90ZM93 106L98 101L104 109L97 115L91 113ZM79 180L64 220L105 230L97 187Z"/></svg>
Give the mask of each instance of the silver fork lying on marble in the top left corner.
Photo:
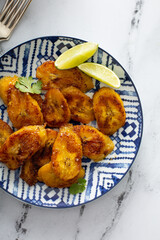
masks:
<svg viewBox="0 0 160 240"><path fill-rule="evenodd" d="M32 0L6 0L0 13L0 41L8 40Z"/></svg>

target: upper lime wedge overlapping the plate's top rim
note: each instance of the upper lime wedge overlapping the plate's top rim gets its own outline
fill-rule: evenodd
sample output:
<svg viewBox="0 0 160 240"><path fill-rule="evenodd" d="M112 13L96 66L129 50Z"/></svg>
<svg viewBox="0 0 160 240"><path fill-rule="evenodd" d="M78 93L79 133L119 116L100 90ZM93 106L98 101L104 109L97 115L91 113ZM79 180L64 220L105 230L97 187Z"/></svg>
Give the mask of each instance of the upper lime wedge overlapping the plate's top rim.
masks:
<svg viewBox="0 0 160 240"><path fill-rule="evenodd" d="M89 59L98 49L97 43L86 42L68 49L55 61L58 69L69 69L78 66Z"/></svg>

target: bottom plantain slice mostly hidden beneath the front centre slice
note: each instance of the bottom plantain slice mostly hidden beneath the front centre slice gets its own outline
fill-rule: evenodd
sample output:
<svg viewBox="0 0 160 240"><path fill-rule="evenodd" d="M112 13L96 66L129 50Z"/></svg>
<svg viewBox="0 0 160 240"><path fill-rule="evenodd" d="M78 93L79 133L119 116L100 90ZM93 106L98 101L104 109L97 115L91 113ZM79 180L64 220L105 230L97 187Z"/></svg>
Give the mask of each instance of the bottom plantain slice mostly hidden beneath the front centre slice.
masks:
<svg viewBox="0 0 160 240"><path fill-rule="evenodd" d="M39 169L38 180L40 182L44 182L49 187L64 188L70 187L71 184L76 183L77 179L83 178L84 175L85 171L83 168L81 168L79 174L75 178L64 181L55 175L52 163L49 162Z"/></svg>

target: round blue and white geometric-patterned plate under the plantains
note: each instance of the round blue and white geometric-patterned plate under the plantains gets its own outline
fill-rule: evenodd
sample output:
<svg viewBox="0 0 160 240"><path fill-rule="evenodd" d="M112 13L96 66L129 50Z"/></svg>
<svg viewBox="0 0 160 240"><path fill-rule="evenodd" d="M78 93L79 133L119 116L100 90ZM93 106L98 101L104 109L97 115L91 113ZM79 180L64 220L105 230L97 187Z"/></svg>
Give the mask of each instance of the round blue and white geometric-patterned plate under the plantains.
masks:
<svg viewBox="0 0 160 240"><path fill-rule="evenodd" d="M43 62L55 60L62 52L82 42L70 37L41 37L25 42L0 58L0 77L35 77L36 68ZM29 187L19 178L19 169L11 171L0 163L0 187L26 203L49 208L67 208L90 202L120 182L137 155L142 137L143 117L140 99L132 80L122 66L101 48L89 61L106 65L119 76L121 87L117 92L124 102L126 124L111 136L115 148L103 161L96 163L87 158L83 159L87 186L81 194L70 195L68 188L50 188L43 183ZM94 89L88 94L93 95L102 86L102 83L94 81ZM6 109L0 100L0 117L12 126ZM96 122L89 125L96 127Z"/></svg>

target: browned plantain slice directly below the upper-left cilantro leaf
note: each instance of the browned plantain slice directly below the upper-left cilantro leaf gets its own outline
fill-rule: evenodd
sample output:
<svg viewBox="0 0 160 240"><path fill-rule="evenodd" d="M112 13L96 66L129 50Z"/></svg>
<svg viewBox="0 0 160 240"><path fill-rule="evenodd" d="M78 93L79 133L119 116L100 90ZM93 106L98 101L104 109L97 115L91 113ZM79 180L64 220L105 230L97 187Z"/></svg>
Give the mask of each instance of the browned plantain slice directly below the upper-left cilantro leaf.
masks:
<svg viewBox="0 0 160 240"><path fill-rule="evenodd" d="M16 88L11 89L7 112L13 126L17 129L43 124L43 115L37 101L29 93L22 93Z"/></svg>

